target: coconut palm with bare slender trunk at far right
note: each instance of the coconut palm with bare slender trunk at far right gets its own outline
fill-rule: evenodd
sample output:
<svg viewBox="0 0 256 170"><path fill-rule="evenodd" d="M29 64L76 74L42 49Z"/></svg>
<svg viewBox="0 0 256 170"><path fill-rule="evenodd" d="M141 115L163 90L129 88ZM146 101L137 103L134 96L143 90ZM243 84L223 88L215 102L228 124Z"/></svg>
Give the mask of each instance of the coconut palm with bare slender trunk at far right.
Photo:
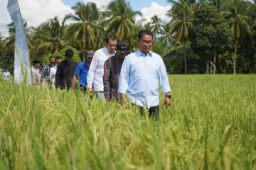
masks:
<svg viewBox="0 0 256 170"><path fill-rule="evenodd" d="M228 7L228 11L223 11L220 13L221 16L228 19L228 23L231 25L231 32L235 38L235 57L234 57L234 74L236 74L236 58L238 50L238 40L242 34L247 33L248 35L253 36L254 31L251 28L250 24L247 23L249 17L242 15L242 7L244 6L244 1L242 0L233 0Z"/></svg>

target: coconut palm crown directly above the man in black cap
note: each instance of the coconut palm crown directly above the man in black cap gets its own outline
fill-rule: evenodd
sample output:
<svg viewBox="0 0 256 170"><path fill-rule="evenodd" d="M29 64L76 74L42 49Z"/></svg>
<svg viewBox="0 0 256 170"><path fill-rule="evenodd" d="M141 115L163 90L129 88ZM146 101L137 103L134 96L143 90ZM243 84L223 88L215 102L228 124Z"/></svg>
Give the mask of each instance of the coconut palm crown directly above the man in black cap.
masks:
<svg viewBox="0 0 256 170"><path fill-rule="evenodd" d="M134 41L135 16L142 16L139 11L133 11L129 2L114 0L105 11L105 26L108 33L116 34L119 40L126 40L130 44Z"/></svg>

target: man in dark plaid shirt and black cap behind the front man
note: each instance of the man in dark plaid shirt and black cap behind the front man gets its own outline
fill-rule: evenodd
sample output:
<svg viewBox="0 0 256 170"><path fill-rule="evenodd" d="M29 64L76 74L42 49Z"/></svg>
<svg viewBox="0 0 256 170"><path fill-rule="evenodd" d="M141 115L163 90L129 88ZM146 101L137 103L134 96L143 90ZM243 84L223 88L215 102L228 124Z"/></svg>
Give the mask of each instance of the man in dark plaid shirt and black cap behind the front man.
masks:
<svg viewBox="0 0 256 170"><path fill-rule="evenodd" d="M117 53L106 60L104 64L104 94L107 101L118 101L119 96L117 93L119 84L119 74L122 67L124 57L129 55L131 47L127 42L117 42Z"/></svg>

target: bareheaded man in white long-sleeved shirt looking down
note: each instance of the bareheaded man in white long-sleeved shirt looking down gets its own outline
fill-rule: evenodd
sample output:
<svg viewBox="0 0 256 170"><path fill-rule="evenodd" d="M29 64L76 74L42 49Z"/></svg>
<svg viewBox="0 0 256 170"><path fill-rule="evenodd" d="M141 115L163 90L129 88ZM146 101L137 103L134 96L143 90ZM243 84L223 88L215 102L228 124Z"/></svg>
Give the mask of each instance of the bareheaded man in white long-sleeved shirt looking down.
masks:
<svg viewBox="0 0 256 170"><path fill-rule="evenodd" d="M95 52L87 75L87 91L94 91L97 98L100 100L105 99L103 86L104 63L109 57L115 55L117 36L109 35L105 40L106 47L103 47Z"/></svg>

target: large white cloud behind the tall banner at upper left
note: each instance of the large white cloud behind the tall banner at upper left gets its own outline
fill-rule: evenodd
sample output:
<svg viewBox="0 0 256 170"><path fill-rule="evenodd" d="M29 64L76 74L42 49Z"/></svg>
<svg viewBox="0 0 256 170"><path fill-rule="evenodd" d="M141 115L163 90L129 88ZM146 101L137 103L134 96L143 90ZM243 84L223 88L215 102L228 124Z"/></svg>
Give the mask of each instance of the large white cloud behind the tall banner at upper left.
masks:
<svg viewBox="0 0 256 170"><path fill-rule="evenodd" d="M70 6L63 4L61 0L20 0L18 3L22 18L27 21L28 26L39 26L54 16L59 16L60 21L62 21L65 14L73 13ZM4 36L8 35L6 25L11 23L11 17L6 6L7 0L1 0L0 32Z"/></svg>

